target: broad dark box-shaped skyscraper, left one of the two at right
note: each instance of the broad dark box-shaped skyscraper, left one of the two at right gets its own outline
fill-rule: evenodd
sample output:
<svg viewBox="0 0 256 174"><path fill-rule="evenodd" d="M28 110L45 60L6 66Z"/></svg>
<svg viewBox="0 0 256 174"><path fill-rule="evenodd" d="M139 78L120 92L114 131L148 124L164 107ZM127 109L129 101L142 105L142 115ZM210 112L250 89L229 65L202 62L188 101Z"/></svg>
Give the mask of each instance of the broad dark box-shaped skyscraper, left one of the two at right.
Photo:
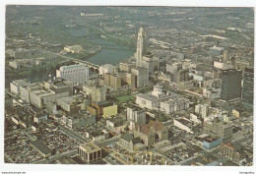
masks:
<svg viewBox="0 0 256 174"><path fill-rule="evenodd" d="M222 72L221 99L230 101L241 97L242 71L226 69Z"/></svg>

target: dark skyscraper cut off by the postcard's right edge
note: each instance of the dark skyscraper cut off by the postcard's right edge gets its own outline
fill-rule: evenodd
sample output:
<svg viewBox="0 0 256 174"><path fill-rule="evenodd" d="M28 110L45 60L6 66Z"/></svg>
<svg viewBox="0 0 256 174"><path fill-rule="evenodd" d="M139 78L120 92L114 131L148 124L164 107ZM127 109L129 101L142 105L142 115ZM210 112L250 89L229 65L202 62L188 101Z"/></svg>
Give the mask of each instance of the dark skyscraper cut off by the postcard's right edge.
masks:
<svg viewBox="0 0 256 174"><path fill-rule="evenodd" d="M247 110L253 109L253 69L245 68L243 74L242 106Z"/></svg>

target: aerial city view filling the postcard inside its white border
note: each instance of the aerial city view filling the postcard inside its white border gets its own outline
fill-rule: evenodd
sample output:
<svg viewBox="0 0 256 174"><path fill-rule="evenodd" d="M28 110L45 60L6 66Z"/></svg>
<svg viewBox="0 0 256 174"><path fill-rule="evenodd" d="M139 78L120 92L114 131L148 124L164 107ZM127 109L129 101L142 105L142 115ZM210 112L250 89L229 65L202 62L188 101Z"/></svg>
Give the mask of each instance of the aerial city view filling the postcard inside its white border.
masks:
<svg viewBox="0 0 256 174"><path fill-rule="evenodd" d="M5 163L253 165L253 8L8 5L5 23Z"/></svg>

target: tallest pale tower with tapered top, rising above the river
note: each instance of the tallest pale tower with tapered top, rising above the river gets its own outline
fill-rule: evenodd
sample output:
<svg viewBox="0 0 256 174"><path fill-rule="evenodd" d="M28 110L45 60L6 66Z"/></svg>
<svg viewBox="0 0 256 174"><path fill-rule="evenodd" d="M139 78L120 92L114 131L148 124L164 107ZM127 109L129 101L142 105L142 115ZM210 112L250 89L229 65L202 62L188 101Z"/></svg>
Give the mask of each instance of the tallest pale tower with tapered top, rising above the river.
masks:
<svg viewBox="0 0 256 174"><path fill-rule="evenodd" d="M146 32L143 27L138 32L137 38L137 51L136 51L136 60L137 60L137 67L142 67L143 55L146 52Z"/></svg>

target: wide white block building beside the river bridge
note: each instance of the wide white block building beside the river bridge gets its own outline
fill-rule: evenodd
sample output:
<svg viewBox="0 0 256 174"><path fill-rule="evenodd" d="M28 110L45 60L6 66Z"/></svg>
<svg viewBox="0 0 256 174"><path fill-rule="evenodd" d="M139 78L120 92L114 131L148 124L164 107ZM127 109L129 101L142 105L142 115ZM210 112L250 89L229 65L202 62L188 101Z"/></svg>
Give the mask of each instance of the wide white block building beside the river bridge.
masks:
<svg viewBox="0 0 256 174"><path fill-rule="evenodd" d="M57 78L72 83L85 84L89 81L89 68L86 65L69 65L56 70Z"/></svg>

